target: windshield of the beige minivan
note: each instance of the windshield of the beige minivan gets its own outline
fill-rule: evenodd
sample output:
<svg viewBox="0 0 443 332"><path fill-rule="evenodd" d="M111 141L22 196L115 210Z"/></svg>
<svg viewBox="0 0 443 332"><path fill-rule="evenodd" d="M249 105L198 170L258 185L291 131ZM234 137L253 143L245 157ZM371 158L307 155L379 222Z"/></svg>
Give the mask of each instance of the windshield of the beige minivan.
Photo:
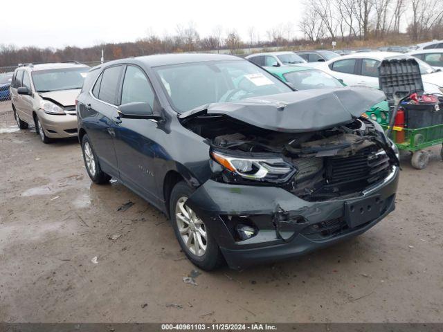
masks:
<svg viewBox="0 0 443 332"><path fill-rule="evenodd" d="M49 69L33 71L33 82L37 92L82 89L89 67Z"/></svg>

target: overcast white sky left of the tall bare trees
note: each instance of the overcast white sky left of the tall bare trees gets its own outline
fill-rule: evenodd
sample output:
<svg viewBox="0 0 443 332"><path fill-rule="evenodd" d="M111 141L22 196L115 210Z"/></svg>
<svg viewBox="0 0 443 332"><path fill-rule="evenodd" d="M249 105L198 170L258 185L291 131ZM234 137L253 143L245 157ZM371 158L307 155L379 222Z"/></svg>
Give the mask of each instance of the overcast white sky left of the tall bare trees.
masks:
<svg viewBox="0 0 443 332"><path fill-rule="evenodd" d="M255 26L260 37L278 24L293 24L302 15L301 0L154 0L154 1L1 1L0 44L55 47L93 46L101 42L134 42L152 30L175 33L177 24L193 21L201 37L220 24L235 28L247 40ZM20 10L17 10L20 8Z"/></svg>

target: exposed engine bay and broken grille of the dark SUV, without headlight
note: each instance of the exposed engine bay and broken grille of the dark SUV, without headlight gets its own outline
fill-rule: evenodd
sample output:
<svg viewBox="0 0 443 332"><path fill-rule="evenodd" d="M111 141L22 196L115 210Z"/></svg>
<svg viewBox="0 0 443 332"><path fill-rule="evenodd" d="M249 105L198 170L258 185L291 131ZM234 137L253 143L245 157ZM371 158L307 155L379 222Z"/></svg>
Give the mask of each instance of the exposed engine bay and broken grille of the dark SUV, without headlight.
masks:
<svg viewBox="0 0 443 332"><path fill-rule="evenodd" d="M197 116L182 123L206 138L215 151L241 158L280 156L296 172L278 185L307 201L355 196L385 178L392 165L398 165L383 133L366 118L301 133L262 129L225 115ZM218 181L257 185L257 181L226 170L215 177Z"/></svg>

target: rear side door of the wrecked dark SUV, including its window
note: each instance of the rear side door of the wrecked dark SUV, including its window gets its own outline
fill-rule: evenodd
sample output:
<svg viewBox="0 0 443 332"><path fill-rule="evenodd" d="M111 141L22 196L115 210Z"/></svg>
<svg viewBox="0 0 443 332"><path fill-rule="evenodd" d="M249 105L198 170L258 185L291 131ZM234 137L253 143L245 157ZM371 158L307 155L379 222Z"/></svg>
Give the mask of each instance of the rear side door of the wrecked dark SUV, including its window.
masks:
<svg viewBox="0 0 443 332"><path fill-rule="evenodd" d="M86 104L88 116L82 121L98 156L103 172L119 176L114 136L116 129L118 86L120 85L123 65L105 68L98 76L91 89L89 104Z"/></svg>

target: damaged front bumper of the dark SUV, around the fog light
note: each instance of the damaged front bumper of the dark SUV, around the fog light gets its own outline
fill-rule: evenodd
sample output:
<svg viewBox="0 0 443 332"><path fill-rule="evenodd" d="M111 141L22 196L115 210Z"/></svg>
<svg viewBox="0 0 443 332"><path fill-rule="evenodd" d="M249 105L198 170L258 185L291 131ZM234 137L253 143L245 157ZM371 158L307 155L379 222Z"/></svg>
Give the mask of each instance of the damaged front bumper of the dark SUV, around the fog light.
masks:
<svg viewBox="0 0 443 332"><path fill-rule="evenodd" d="M233 185L209 180L187 201L215 237L231 268L305 255L361 234L395 209L399 168L359 196L304 201L280 187ZM242 240L236 225L255 236Z"/></svg>

